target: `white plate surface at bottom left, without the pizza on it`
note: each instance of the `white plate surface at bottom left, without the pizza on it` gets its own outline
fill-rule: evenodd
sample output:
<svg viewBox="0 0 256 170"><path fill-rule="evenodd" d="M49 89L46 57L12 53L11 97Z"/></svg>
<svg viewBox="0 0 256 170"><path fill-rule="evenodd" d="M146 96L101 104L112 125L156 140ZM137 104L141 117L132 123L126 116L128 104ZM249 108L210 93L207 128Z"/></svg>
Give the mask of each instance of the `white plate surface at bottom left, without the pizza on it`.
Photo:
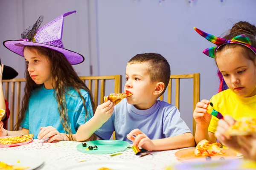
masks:
<svg viewBox="0 0 256 170"><path fill-rule="evenodd" d="M29 167L27 170L34 170L44 163L40 157L36 154L29 154L26 152L20 151L5 151L0 154L0 161L9 164L9 165L17 165Z"/></svg>

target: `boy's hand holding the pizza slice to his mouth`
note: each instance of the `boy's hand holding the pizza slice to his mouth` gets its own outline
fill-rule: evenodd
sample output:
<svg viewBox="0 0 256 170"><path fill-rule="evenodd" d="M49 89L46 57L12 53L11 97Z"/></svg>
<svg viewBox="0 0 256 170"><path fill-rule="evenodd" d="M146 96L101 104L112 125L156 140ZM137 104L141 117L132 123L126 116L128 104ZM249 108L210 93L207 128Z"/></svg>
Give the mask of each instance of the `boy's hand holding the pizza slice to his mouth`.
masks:
<svg viewBox="0 0 256 170"><path fill-rule="evenodd" d="M103 124L108 121L114 111L114 103L109 100L99 105L94 116Z"/></svg>

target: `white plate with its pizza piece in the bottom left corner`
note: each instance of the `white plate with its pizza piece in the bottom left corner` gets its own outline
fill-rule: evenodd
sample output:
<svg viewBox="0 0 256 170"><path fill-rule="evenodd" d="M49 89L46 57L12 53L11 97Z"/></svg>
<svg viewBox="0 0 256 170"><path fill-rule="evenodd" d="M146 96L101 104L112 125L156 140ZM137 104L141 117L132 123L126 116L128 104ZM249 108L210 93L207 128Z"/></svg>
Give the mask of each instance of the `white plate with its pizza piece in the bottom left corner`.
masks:
<svg viewBox="0 0 256 170"><path fill-rule="evenodd" d="M33 153L6 151L0 155L0 170L34 170L43 163L43 159Z"/></svg>

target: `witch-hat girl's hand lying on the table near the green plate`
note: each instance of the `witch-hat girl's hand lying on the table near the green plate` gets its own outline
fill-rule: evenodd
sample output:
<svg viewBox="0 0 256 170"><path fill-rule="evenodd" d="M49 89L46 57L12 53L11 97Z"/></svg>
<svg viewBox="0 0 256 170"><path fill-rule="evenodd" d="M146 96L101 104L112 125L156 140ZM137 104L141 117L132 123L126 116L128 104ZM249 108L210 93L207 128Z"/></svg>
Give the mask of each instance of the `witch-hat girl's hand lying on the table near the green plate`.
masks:
<svg viewBox="0 0 256 170"><path fill-rule="evenodd" d="M47 142L64 140L61 133L59 133L58 130L52 126L41 127L40 130L41 131L38 133L38 139L46 140L49 138Z"/></svg>

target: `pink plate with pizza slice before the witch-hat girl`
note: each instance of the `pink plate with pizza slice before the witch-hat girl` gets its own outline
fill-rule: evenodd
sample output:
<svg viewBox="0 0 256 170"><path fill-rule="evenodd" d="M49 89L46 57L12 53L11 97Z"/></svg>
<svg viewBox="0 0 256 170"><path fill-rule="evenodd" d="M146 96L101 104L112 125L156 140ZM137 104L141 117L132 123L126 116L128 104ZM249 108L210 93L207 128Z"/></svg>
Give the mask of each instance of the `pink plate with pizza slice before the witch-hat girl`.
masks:
<svg viewBox="0 0 256 170"><path fill-rule="evenodd" d="M0 148L14 147L23 144L28 144L33 140L34 134L20 135L20 136L2 136L0 137Z"/></svg>

